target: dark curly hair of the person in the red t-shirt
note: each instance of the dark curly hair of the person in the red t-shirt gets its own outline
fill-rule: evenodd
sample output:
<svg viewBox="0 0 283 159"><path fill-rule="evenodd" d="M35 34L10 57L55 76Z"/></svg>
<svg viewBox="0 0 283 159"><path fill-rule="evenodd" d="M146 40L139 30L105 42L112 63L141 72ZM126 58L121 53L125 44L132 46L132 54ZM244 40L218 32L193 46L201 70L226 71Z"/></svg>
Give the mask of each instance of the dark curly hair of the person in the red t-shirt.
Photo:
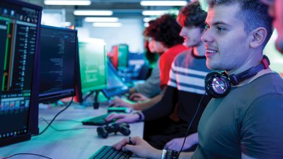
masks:
<svg viewBox="0 0 283 159"><path fill-rule="evenodd" d="M183 37L179 35L181 29L174 15L164 14L149 23L149 26L144 30L144 35L162 42L166 47L173 47L184 42Z"/></svg>

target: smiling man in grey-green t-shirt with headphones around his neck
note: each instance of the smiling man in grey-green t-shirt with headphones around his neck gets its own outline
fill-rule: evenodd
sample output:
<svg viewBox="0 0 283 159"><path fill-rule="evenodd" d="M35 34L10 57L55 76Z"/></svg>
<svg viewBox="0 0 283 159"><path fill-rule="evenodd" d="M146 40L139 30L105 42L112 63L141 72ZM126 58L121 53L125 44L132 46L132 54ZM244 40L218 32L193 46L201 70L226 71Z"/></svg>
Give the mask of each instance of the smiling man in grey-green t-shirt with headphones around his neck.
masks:
<svg viewBox="0 0 283 159"><path fill-rule="evenodd" d="M262 57L272 34L267 6L260 0L202 1L207 3L202 36L207 67L226 74L207 76L207 90L214 98L198 126L199 146L193 155L180 153L179 158L283 158L283 79ZM216 93L214 80L231 84L230 92L224 87ZM126 138L114 147L144 158L173 158L139 137L131 137L131 142Z"/></svg>

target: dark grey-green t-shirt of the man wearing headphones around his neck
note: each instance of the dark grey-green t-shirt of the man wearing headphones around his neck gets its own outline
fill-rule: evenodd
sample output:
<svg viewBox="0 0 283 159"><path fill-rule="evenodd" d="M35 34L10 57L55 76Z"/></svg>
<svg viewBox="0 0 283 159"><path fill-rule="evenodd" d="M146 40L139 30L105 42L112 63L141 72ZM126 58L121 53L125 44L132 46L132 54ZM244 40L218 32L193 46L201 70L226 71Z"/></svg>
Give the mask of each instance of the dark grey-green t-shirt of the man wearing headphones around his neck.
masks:
<svg viewBox="0 0 283 159"><path fill-rule="evenodd" d="M283 158L283 80L267 73L212 99L198 126L195 158Z"/></svg>

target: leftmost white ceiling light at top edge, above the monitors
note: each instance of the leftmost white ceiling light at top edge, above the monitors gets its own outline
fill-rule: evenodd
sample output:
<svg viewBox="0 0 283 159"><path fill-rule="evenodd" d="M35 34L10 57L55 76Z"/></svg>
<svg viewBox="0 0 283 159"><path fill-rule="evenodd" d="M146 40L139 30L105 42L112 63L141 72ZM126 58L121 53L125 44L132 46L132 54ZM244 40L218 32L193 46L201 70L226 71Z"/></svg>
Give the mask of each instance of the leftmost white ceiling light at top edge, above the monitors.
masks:
<svg viewBox="0 0 283 159"><path fill-rule="evenodd" d="M81 1L63 1L63 0L45 0L45 5L72 5L72 6L89 6L91 5L90 0L81 0Z"/></svg>

